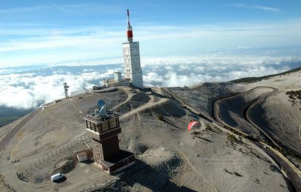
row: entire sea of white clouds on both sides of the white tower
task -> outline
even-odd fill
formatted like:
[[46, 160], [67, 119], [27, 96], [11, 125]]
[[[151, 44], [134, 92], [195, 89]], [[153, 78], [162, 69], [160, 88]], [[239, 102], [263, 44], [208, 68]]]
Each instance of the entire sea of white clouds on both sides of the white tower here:
[[[301, 58], [290, 56], [178, 56], [144, 57], [141, 60], [146, 86], [192, 86], [206, 81], [229, 81], [242, 77], [276, 74], [300, 66]], [[122, 61], [120, 61], [122, 63]], [[31, 109], [69, 93], [100, 85], [102, 79], [123, 72], [122, 64], [53, 66], [20, 72], [0, 69], [0, 106]]]

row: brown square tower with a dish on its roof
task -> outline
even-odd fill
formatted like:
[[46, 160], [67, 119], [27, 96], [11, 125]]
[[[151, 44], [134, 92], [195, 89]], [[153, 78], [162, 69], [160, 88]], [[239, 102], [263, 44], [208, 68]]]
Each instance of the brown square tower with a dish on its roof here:
[[121, 133], [119, 117], [108, 111], [104, 101], [98, 101], [95, 113], [88, 113], [86, 132], [91, 136], [95, 163], [111, 174], [134, 164], [134, 153], [119, 147], [118, 134]]

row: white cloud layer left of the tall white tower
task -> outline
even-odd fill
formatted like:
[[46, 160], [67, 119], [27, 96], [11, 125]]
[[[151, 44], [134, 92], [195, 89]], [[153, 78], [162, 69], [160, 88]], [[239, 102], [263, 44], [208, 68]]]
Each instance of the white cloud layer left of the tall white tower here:
[[91, 87], [91, 81], [111, 77], [114, 70], [105, 73], [84, 72], [82, 74], [56, 74], [42, 76], [33, 73], [5, 74], [0, 76], [0, 106], [31, 109], [44, 102], [64, 97], [63, 82], [68, 82], [69, 93]]

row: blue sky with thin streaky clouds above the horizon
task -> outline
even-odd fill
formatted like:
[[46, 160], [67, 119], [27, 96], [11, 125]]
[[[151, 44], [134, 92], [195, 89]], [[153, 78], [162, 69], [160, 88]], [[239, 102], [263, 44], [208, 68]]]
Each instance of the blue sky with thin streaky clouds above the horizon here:
[[0, 0], [0, 67], [122, 62], [127, 8], [141, 57], [236, 49], [294, 56], [301, 45], [300, 7], [301, 1]]

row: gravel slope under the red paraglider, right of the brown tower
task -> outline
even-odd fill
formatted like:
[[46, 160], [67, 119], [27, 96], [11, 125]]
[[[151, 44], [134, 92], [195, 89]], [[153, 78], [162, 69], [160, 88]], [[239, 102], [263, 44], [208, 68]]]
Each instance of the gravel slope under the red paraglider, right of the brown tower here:
[[[157, 115], [164, 115], [165, 121], [158, 120]], [[288, 190], [275, 162], [256, 145], [245, 140], [231, 143], [226, 133], [217, 128], [197, 129], [199, 134], [193, 135], [185, 130], [192, 118], [196, 117], [178, 104], [166, 102], [121, 122], [124, 127], [121, 143], [139, 154], [137, 157], [155, 171], [164, 173], [157, 169], [162, 161], [180, 165], [177, 162], [181, 159], [181, 167], [173, 167], [177, 170], [170, 179], [173, 184], [161, 184], [162, 191], [175, 184], [195, 191]], [[131, 190], [144, 189], [144, 182]]]

